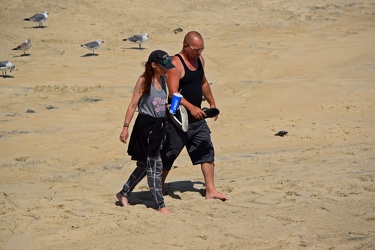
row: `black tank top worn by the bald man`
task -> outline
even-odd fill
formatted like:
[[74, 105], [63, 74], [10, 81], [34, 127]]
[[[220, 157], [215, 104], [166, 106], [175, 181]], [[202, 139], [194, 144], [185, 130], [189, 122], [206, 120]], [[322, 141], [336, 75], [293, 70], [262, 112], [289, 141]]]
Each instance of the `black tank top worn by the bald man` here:
[[201, 108], [202, 80], [204, 76], [204, 70], [203, 70], [201, 60], [200, 59], [198, 60], [198, 68], [194, 71], [191, 71], [186, 66], [181, 55], [177, 54], [176, 56], [180, 58], [180, 61], [184, 65], [184, 69], [185, 69], [185, 75], [183, 78], [180, 79], [178, 90], [188, 102], [190, 102], [194, 106]]

